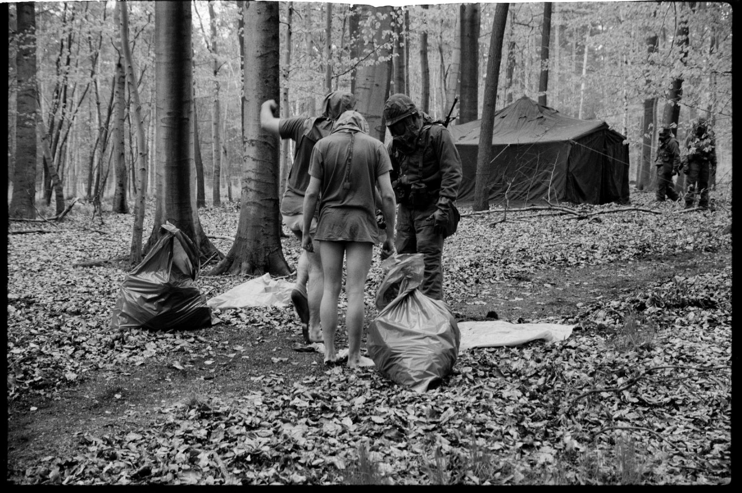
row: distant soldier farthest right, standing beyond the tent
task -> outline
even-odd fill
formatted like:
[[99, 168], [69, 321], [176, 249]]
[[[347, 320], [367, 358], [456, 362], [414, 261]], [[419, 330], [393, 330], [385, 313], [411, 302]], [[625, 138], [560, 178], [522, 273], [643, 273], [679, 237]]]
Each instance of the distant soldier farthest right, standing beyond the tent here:
[[716, 170], [716, 140], [714, 132], [709, 128], [706, 119], [701, 116], [686, 137], [685, 147], [688, 155], [683, 168], [686, 173], [688, 191], [686, 193], [686, 209], [693, 207], [695, 196], [700, 195], [698, 207], [709, 207], [709, 174]]

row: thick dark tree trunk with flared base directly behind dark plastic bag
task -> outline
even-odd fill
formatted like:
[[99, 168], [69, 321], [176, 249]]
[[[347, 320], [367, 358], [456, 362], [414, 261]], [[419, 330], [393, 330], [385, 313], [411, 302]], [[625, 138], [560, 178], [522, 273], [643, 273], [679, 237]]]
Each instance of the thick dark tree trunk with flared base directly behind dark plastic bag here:
[[193, 240], [202, 261], [222, 258], [206, 237], [198, 219], [195, 191], [191, 191], [193, 164], [193, 74], [191, 4], [157, 1], [154, 4], [155, 86], [157, 91], [157, 208], [154, 227], [143, 249], [160, 239], [160, 227], [170, 221]]

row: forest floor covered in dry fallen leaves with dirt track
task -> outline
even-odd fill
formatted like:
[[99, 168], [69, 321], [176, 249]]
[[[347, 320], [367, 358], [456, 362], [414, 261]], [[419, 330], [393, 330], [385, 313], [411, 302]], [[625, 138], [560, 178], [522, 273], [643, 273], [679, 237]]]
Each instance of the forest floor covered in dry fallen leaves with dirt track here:
[[[732, 211], [714, 196], [715, 211], [633, 191], [628, 207], [660, 214], [464, 216], [444, 253], [456, 319], [496, 311], [574, 331], [462, 351], [424, 394], [295, 351], [292, 306], [119, 337], [109, 323], [125, 269], [76, 264], [127, 254], [131, 216], [101, 225], [82, 205], [58, 224], [10, 222], [7, 481], [729, 483]], [[238, 215], [200, 211], [216, 236], [233, 236]], [[282, 241], [293, 266], [298, 242]], [[207, 299], [250, 279], [208, 274], [197, 281]], [[381, 278], [375, 255], [367, 325]], [[339, 348], [344, 309], [341, 295]]]

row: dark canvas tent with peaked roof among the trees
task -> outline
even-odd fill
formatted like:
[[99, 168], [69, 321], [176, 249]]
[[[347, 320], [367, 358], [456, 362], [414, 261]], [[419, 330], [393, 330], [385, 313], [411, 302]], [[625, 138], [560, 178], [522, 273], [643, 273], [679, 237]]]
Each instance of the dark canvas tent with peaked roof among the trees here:
[[[459, 202], [472, 202], [482, 120], [450, 127], [462, 158]], [[563, 116], [523, 96], [495, 113], [490, 203], [628, 202], [626, 138], [600, 120]]]

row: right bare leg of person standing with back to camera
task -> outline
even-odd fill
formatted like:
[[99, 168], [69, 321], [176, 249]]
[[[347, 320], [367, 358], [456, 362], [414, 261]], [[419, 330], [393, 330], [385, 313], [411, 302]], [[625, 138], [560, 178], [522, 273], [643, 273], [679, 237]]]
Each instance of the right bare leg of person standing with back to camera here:
[[367, 357], [361, 356], [361, 336], [364, 330], [364, 288], [371, 267], [373, 245], [371, 243], [348, 242], [347, 276], [345, 291], [348, 295], [348, 311], [345, 325], [348, 331], [348, 366], [373, 366]]

